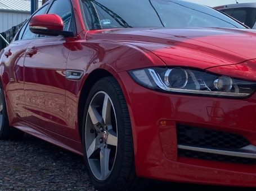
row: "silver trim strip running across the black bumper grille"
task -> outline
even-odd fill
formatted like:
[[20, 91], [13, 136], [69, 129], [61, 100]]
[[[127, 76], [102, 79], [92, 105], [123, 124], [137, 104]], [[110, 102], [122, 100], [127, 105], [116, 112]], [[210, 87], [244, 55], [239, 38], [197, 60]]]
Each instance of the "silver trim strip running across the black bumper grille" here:
[[242, 147], [236, 150], [216, 150], [212, 148], [191, 147], [191, 146], [185, 146], [185, 145], [178, 145], [178, 148], [183, 150], [206, 152], [206, 153], [212, 153], [217, 155], [256, 159], [256, 146], [253, 146], [253, 145]]

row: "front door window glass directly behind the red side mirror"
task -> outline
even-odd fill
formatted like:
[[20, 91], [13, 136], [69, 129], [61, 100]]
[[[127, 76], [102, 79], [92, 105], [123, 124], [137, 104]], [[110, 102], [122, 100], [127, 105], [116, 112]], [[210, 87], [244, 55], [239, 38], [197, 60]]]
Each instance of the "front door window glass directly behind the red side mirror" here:
[[53, 2], [48, 14], [59, 15], [64, 22], [64, 31], [74, 31], [73, 12], [70, 0], [56, 0]]

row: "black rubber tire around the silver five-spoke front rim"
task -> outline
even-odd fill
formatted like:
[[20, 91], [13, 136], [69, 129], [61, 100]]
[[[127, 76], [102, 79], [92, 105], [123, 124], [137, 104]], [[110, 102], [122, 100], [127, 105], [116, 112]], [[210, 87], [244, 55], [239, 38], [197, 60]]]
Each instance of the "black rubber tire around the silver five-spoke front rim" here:
[[[118, 128], [118, 144], [116, 147], [116, 158], [113, 170], [106, 180], [99, 180], [93, 174], [87, 159], [86, 151], [86, 119], [87, 111], [91, 100], [98, 93], [106, 92], [116, 110], [116, 123]], [[131, 120], [127, 104], [119, 86], [114, 77], [105, 77], [95, 83], [89, 92], [83, 115], [82, 142], [84, 146], [84, 160], [88, 169], [89, 177], [97, 190], [143, 190], [148, 185], [148, 180], [138, 178], [134, 164], [134, 150]]]

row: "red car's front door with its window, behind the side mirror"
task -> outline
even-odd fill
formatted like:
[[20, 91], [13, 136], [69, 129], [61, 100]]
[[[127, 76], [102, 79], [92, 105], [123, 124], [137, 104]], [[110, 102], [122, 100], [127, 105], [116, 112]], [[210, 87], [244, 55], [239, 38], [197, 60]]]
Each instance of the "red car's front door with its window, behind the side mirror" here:
[[[70, 0], [53, 1], [48, 14], [59, 15], [64, 30], [74, 31]], [[69, 38], [38, 36], [29, 44], [24, 62], [26, 120], [51, 132], [72, 138], [66, 123], [66, 63]]]

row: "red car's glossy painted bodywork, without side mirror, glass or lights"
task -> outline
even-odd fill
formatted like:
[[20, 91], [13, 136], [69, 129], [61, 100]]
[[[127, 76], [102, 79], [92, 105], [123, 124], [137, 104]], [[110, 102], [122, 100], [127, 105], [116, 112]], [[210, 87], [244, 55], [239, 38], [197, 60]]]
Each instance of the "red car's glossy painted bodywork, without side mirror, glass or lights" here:
[[[10, 124], [82, 154], [80, 94], [92, 72], [105, 70], [118, 80], [127, 100], [139, 176], [256, 187], [255, 165], [181, 158], [175, 139], [176, 124], [181, 123], [241, 134], [256, 145], [255, 94], [247, 99], [164, 94], [138, 85], [127, 73], [137, 68], [182, 66], [256, 81], [255, 33], [239, 29], [86, 31], [79, 2], [72, 2], [75, 38], [16, 41], [1, 52], [0, 74]], [[37, 53], [30, 57], [25, 52], [33, 48]], [[4, 52], [8, 50], [12, 55], [7, 58]], [[66, 69], [83, 71], [82, 80], [66, 80]]]

